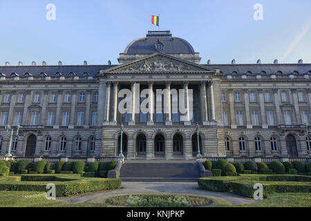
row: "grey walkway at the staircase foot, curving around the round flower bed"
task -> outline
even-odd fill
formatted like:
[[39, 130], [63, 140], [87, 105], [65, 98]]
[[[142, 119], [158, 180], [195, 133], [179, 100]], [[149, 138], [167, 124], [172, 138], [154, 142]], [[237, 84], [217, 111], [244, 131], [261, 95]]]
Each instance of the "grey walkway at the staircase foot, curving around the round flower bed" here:
[[132, 193], [188, 193], [196, 195], [210, 195], [223, 198], [232, 204], [252, 204], [258, 202], [232, 193], [220, 193], [198, 189], [197, 182], [122, 182], [122, 188], [113, 191], [100, 191], [97, 193], [77, 195], [70, 198], [58, 198], [57, 200], [70, 203], [82, 203], [116, 194]]

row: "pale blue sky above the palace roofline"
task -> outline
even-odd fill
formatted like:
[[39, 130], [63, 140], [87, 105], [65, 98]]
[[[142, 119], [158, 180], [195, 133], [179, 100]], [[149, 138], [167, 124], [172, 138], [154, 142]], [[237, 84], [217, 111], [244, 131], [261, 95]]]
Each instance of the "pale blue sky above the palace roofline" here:
[[[46, 19], [48, 3], [55, 21]], [[255, 3], [263, 21], [253, 19]], [[0, 65], [117, 64], [133, 39], [158, 30], [151, 15], [160, 15], [160, 30], [189, 41], [202, 64], [311, 63], [310, 11], [310, 0], [0, 0]]]

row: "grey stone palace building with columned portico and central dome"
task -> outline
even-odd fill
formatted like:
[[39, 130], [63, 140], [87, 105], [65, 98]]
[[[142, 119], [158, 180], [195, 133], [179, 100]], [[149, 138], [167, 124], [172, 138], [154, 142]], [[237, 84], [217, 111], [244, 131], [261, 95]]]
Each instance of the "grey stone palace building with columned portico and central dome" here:
[[[6, 62], [0, 155], [8, 153], [10, 124], [20, 125], [10, 151], [17, 157], [117, 157], [121, 144], [127, 160], [194, 160], [198, 147], [205, 158], [311, 156], [311, 64], [200, 60], [185, 39], [149, 31], [120, 53], [118, 65]], [[129, 113], [118, 110], [122, 89], [133, 93]], [[139, 109], [144, 89], [153, 91], [149, 113]], [[156, 97], [158, 89], [167, 100]], [[171, 93], [181, 89], [186, 114], [173, 108], [180, 97]]]

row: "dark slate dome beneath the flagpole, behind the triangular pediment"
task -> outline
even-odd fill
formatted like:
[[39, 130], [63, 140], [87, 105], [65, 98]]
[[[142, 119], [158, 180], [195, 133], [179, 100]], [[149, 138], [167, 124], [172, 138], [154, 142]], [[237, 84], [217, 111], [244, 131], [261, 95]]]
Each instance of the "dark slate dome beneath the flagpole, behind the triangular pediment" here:
[[167, 54], [194, 54], [194, 48], [185, 39], [172, 37], [169, 30], [148, 31], [146, 37], [135, 39], [124, 50], [127, 55], [144, 55], [155, 52]]

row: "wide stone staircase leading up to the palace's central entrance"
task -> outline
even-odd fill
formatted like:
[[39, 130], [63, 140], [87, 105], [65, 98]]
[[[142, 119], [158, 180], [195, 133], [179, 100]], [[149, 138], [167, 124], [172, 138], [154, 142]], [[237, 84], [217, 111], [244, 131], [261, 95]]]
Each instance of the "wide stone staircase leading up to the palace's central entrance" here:
[[128, 160], [120, 170], [122, 181], [196, 181], [198, 177], [198, 164], [184, 160]]

